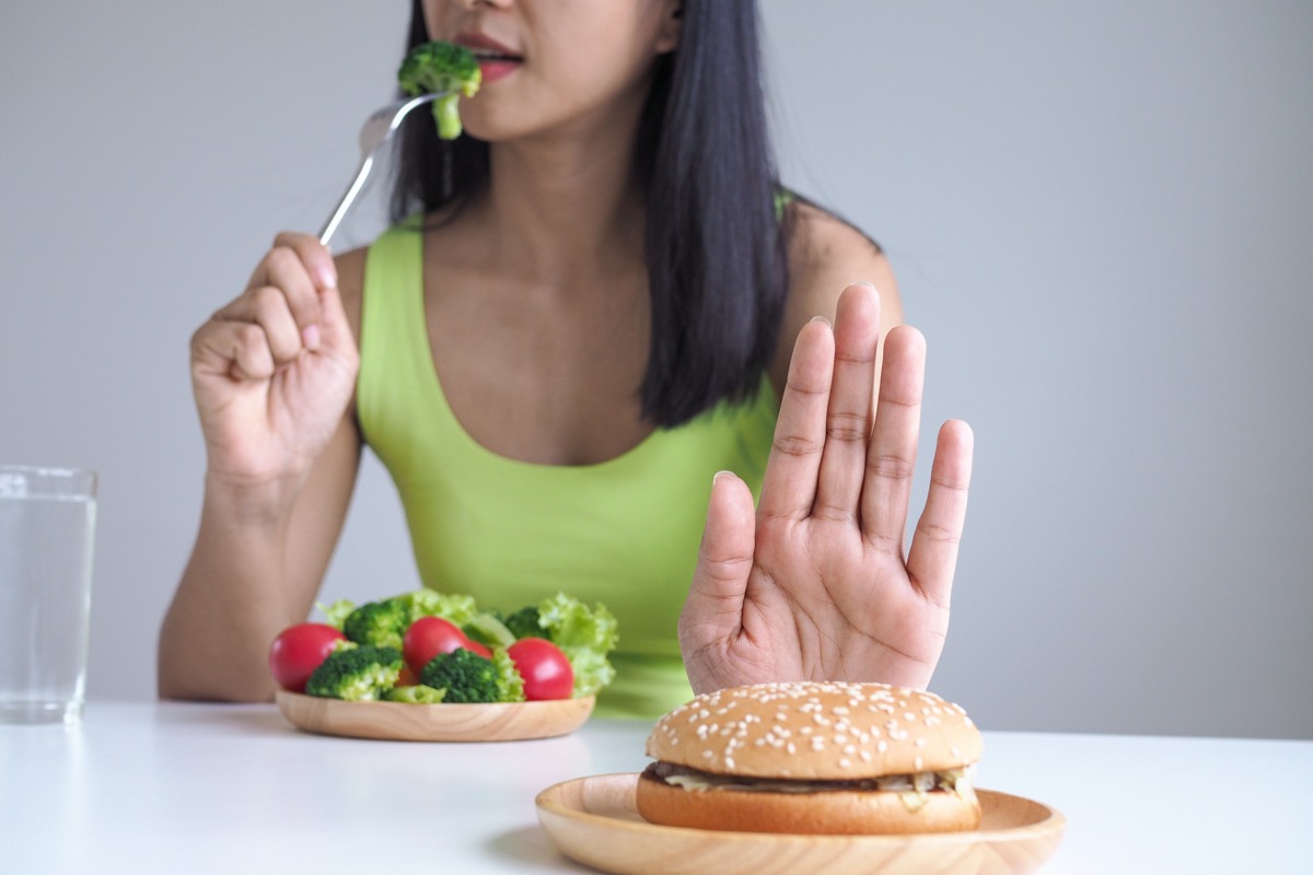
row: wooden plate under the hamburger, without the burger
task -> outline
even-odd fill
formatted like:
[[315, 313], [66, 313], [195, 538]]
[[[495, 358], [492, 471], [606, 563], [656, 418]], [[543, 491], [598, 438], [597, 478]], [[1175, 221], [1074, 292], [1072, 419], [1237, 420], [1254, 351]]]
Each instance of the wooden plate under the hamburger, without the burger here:
[[635, 774], [578, 778], [537, 798], [538, 823], [566, 857], [617, 875], [1024, 875], [1062, 840], [1066, 819], [1020, 796], [978, 790], [977, 830], [918, 836], [780, 836], [649, 824]]

